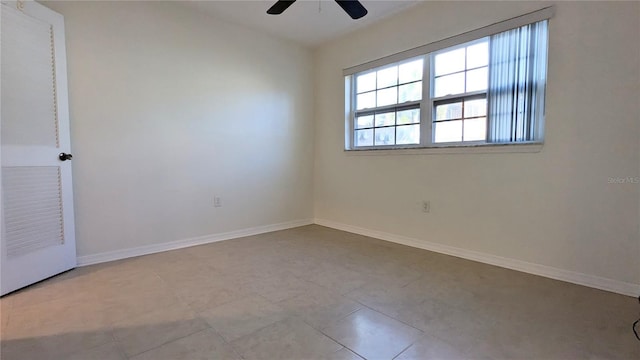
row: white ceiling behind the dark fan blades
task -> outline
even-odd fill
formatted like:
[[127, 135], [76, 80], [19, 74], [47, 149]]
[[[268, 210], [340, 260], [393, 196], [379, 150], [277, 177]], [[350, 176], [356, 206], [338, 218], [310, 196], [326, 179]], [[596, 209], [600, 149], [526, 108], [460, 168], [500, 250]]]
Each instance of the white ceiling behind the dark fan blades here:
[[[316, 46], [415, 5], [420, 0], [360, 0], [369, 13], [351, 19], [333, 0], [297, 0], [284, 13], [268, 15], [276, 0], [185, 1], [213, 17]], [[318, 10], [320, 8], [320, 11]]]

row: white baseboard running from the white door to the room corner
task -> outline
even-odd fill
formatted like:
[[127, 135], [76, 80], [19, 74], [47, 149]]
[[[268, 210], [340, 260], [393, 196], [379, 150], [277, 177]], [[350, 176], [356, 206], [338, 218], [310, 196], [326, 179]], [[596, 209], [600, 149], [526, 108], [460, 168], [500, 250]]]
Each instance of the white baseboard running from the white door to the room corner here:
[[225, 233], [204, 235], [204, 236], [198, 236], [198, 237], [193, 237], [189, 239], [170, 241], [162, 244], [145, 245], [145, 246], [139, 246], [139, 247], [130, 248], [130, 249], [107, 251], [107, 252], [94, 254], [94, 255], [79, 256], [78, 266], [86, 266], [86, 265], [103, 263], [107, 261], [121, 260], [121, 259], [126, 259], [130, 257], [135, 257], [135, 256], [154, 254], [162, 251], [182, 249], [182, 248], [195, 246], [195, 245], [202, 245], [202, 244], [208, 244], [208, 243], [217, 242], [217, 241], [258, 235], [258, 234], [263, 234], [267, 232], [285, 230], [285, 229], [290, 229], [290, 228], [304, 226], [304, 225], [311, 225], [311, 224], [313, 224], [313, 221], [311, 219], [294, 220], [294, 221], [288, 221], [288, 222], [279, 223], [279, 224], [256, 226], [248, 229], [234, 230], [234, 231], [229, 231]]

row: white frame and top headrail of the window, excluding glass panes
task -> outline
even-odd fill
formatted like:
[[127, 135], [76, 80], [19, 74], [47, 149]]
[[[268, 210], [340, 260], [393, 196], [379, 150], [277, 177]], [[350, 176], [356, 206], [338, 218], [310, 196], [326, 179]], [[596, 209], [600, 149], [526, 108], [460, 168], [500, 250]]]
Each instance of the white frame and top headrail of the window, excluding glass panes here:
[[[527, 145], [537, 145], [532, 149], [539, 151], [539, 146], [544, 142], [544, 138], [541, 136], [535, 141], [521, 141], [521, 142], [507, 142], [507, 143], [488, 143], [486, 141], [460, 141], [460, 142], [442, 142], [435, 143], [433, 141], [433, 117], [434, 117], [434, 99], [432, 98], [431, 89], [433, 87], [433, 61], [432, 58], [435, 54], [441, 51], [453, 50], [458, 46], [467, 46], [469, 43], [480, 41], [494, 34], [509, 31], [515, 28], [526, 26], [532, 23], [548, 20], [555, 14], [555, 7], [546, 7], [522, 16], [518, 16], [512, 19], [494, 23], [492, 25], [485, 26], [480, 29], [472, 30], [460, 35], [456, 35], [447, 39], [436, 41], [430, 44], [426, 44], [414, 49], [406, 50], [397, 54], [393, 54], [381, 59], [370, 61], [361, 65], [350, 67], [343, 70], [345, 78], [345, 150], [347, 151], [363, 151], [363, 150], [397, 150], [397, 149], [432, 149], [432, 148], [472, 148], [472, 147], [494, 147], [502, 148], [498, 151], [501, 152], [506, 147], [515, 148], [519, 147], [521, 150], [525, 149]], [[373, 146], [355, 146], [355, 104], [356, 104], [356, 91], [355, 91], [355, 75], [372, 71], [374, 69], [382, 68], [384, 66], [392, 64], [401, 64], [402, 62], [410, 61], [418, 57], [423, 57], [423, 80], [422, 80], [422, 99], [420, 103], [420, 144], [415, 145], [373, 145]], [[488, 93], [486, 91], [479, 91], [478, 93]], [[451, 95], [451, 98], [462, 98], [470, 96], [469, 93]], [[435, 101], [441, 101], [442, 98], [436, 98]], [[448, 98], [448, 97], [447, 97]], [[391, 107], [402, 107], [405, 104], [396, 104]], [[544, 120], [539, 119], [537, 126], [543, 128]], [[487, 127], [488, 129], [488, 127]], [[542, 132], [543, 133], [543, 132]], [[375, 141], [375, 139], [374, 139]], [[524, 145], [524, 146], [523, 146]], [[458, 151], [456, 151], [458, 152]], [[520, 150], [516, 150], [520, 152]]]

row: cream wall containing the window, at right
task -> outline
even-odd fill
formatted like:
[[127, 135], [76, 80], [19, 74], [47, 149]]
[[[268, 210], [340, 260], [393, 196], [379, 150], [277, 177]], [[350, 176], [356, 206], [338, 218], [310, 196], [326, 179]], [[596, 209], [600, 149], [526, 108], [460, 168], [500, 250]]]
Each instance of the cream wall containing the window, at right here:
[[640, 284], [640, 185], [608, 183], [640, 176], [637, 2], [557, 4], [540, 153], [343, 152], [343, 68], [544, 6], [426, 2], [317, 49], [316, 218]]

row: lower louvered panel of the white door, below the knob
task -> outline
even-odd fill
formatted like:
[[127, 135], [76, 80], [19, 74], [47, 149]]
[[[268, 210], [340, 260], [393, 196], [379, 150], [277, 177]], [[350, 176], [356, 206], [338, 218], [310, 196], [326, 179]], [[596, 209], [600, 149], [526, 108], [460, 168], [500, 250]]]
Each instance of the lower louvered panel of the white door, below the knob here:
[[2, 169], [7, 256], [64, 243], [60, 168]]

